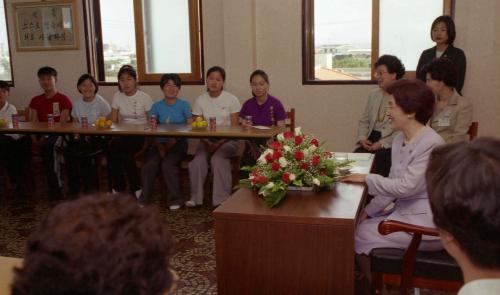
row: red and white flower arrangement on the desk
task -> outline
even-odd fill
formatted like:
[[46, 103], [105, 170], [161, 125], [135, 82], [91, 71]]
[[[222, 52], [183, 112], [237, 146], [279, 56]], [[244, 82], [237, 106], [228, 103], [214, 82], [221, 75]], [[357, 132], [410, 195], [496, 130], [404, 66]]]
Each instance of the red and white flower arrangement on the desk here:
[[341, 175], [349, 173], [352, 161], [338, 161], [333, 153], [325, 151], [319, 140], [286, 131], [271, 141], [250, 171], [248, 179], [240, 180], [240, 187], [258, 189], [269, 207], [276, 206], [290, 187], [330, 187]]

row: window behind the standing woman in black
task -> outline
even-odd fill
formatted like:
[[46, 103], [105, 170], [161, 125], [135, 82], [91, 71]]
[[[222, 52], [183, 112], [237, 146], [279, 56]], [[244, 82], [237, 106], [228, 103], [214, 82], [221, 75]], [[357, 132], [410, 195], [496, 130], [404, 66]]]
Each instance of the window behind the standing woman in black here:
[[392, 54], [415, 76], [420, 54], [434, 46], [430, 26], [452, 0], [303, 0], [304, 84], [373, 83], [372, 65]]

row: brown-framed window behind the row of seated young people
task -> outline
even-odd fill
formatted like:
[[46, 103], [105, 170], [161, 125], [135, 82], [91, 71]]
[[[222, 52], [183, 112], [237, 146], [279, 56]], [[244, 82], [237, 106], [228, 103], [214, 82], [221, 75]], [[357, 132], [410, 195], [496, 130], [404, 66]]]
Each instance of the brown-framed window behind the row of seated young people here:
[[139, 81], [158, 83], [178, 73], [203, 84], [200, 0], [87, 0], [89, 68], [99, 81], [116, 82], [124, 64]]

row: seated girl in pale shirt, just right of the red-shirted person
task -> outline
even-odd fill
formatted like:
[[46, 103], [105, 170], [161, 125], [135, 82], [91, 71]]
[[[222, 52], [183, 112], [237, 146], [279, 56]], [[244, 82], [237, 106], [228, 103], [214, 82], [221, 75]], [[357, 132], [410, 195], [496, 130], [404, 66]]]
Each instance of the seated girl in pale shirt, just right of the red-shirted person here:
[[[95, 122], [99, 117], [106, 117], [111, 113], [109, 103], [97, 91], [99, 85], [94, 77], [83, 74], [76, 83], [82, 99], [75, 103], [71, 110], [73, 121], [81, 123], [86, 117], [88, 124]], [[91, 155], [106, 148], [107, 142], [100, 136], [73, 137], [64, 150], [68, 171], [68, 195], [73, 196], [80, 192], [80, 182], [83, 191], [89, 193], [98, 188], [97, 166]]]

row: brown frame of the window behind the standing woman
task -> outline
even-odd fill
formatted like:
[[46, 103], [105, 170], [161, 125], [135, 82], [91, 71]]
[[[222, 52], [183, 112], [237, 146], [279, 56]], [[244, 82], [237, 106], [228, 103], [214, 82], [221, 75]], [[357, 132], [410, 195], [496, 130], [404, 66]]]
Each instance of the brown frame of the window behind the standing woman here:
[[[455, 0], [442, 0], [443, 14], [454, 16]], [[379, 7], [380, 0], [372, 0], [371, 64], [379, 57]], [[314, 78], [314, 0], [302, 0], [302, 84], [303, 85], [367, 85], [376, 84], [371, 67], [370, 80], [316, 80]], [[405, 78], [415, 78], [415, 71], [406, 71]]]

